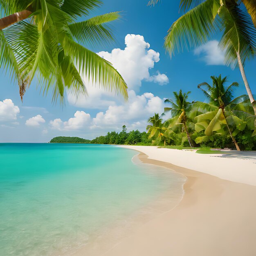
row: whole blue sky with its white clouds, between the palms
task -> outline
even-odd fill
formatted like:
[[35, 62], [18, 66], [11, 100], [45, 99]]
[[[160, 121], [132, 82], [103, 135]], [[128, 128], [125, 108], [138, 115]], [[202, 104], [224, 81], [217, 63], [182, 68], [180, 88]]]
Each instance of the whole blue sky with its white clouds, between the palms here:
[[[229, 76], [230, 83], [240, 84], [236, 96], [246, 93], [239, 69], [223, 65], [223, 53], [217, 47], [220, 36], [211, 38], [199, 49], [175, 54], [173, 58], [166, 54], [164, 37], [181, 15], [179, 1], [163, 0], [155, 7], [147, 7], [147, 0], [103, 2], [91, 16], [122, 11], [123, 18], [113, 23], [115, 43], [92, 50], [112, 61], [127, 80], [128, 103], [88, 84], [88, 99], [82, 97], [75, 102], [66, 92], [65, 106], [53, 105], [51, 93], [43, 97], [35, 81], [27, 89], [22, 103], [18, 85], [3, 72], [0, 74], [0, 142], [48, 142], [55, 136], [92, 139], [107, 131], [120, 131], [124, 124], [128, 130], [142, 131], [150, 115], [162, 113], [164, 98], [172, 97], [173, 91], [191, 91], [191, 101], [204, 101], [197, 85], [204, 81], [210, 83], [211, 75]], [[113, 49], [116, 50], [112, 52]], [[256, 92], [255, 67], [255, 60], [245, 65], [253, 93]]]

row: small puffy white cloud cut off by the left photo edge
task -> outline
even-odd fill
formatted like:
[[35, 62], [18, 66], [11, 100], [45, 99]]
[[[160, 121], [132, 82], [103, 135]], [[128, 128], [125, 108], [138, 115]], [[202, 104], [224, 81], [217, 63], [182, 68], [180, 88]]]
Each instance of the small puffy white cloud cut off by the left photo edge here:
[[20, 113], [18, 106], [15, 106], [11, 99], [0, 101], [0, 121], [16, 120]]

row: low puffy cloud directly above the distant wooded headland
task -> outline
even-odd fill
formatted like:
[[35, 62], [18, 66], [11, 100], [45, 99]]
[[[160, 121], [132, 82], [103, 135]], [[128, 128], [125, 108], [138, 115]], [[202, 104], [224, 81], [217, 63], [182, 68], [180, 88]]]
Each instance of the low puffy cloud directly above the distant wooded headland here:
[[61, 119], [54, 119], [49, 122], [50, 127], [54, 130], [80, 130], [90, 124], [90, 114], [84, 111], [76, 111], [74, 117], [63, 122]]

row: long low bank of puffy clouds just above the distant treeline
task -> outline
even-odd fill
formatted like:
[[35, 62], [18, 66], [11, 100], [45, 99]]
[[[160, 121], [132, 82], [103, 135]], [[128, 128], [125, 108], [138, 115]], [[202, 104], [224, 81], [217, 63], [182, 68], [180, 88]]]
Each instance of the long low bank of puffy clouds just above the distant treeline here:
[[99, 135], [110, 130], [120, 131], [125, 124], [128, 130], [145, 130], [147, 119], [154, 113], [162, 113], [164, 99], [150, 92], [136, 95], [135, 91], [129, 91], [129, 101], [122, 104], [110, 105], [106, 111], [98, 112], [94, 118], [84, 111], [76, 111], [74, 117], [68, 121], [60, 118], [51, 120], [49, 128], [60, 131], [93, 130]]

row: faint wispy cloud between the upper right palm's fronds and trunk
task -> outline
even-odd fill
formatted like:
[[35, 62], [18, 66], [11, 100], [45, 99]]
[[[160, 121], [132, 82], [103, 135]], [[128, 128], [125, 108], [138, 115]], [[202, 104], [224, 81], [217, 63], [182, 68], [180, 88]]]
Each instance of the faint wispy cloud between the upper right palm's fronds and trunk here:
[[217, 40], [211, 40], [194, 50], [194, 54], [207, 65], [225, 65], [225, 52], [218, 47]]

